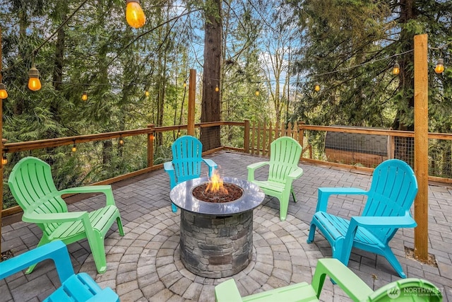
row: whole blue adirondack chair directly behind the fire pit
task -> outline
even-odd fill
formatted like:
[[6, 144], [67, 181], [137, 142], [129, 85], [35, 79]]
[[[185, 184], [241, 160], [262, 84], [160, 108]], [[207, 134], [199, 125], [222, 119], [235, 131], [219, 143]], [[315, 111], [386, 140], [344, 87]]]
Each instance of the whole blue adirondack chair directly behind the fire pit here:
[[[211, 159], [202, 158], [203, 144], [195, 137], [185, 135], [176, 139], [171, 146], [172, 161], [163, 163], [163, 168], [169, 175], [171, 189], [181, 182], [201, 177], [201, 163], [204, 162], [209, 168], [209, 177], [213, 175], [213, 170], [217, 164]], [[172, 211], [176, 212], [177, 207], [171, 203]]]

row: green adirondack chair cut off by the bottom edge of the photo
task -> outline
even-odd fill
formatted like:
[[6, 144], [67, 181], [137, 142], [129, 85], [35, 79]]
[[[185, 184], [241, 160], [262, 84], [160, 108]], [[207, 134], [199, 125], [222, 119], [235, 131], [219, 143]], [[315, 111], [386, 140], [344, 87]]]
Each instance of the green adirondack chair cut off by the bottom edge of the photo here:
[[333, 258], [319, 259], [312, 284], [301, 282], [242, 297], [234, 279], [229, 279], [215, 286], [215, 299], [217, 302], [319, 301], [327, 275], [352, 301], [442, 301], [441, 291], [434, 284], [423, 279], [410, 278], [394, 281], [373, 291], [348, 267]]

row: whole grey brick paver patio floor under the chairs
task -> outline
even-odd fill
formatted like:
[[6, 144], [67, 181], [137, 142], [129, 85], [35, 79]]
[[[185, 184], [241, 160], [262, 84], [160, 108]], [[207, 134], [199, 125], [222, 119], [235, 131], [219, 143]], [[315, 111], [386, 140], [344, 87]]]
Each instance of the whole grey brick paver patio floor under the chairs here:
[[[242, 153], [219, 152], [210, 156], [225, 176], [246, 178], [246, 165], [266, 158]], [[254, 210], [254, 247], [252, 261], [234, 275], [242, 295], [265, 291], [301, 281], [311, 281], [316, 261], [331, 257], [331, 247], [317, 233], [307, 244], [309, 221], [316, 208], [318, 187], [362, 187], [367, 189], [371, 176], [328, 165], [301, 163], [304, 175], [295, 181], [297, 202], [290, 199], [286, 221], [279, 220], [278, 199], [266, 197]], [[203, 167], [203, 170], [207, 170]], [[265, 178], [265, 170], [256, 174]], [[123, 219], [124, 237], [117, 227], [107, 233], [107, 272], [97, 274], [86, 240], [69, 245], [76, 272], [88, 272], [100, 286], [117, 291], [121, 301], [215, 301], [214, 286], [225, 279], [199, 277], [185, 269], [179, 257], [179, 211], [170, 208], [169, 180], [162, 170], [113, 185], [114, 197]], [[105, 198], [95, 196], [71, 204], [69, 209], [90, 210], [100, 207]], [[331, 198], [331, 211], [341, 216], [359, 215], [362, 197]], [[408, 277], [432, 281], [452, 301], [452, 188], [429, 185], [429, 253], [436, 266], [423, 264], [405, 255], [414, 248], [414, 231], [399, 230], [391, 240]], [[16, 222], [2, 227], [1, 248], [18, 255], [35, 248], [40, 229], [30, 223]], [[348, 265], [371, 288], [378, 289], [400, 279], [381, 256], [352, 250]], [[58, 286], [51, 262], [37, 265], [32, 274], [23, 272], [0, 281], [1, 301], [41, 301]], [[349, 301], [338, 286], [326, 282], [322, 301]]]

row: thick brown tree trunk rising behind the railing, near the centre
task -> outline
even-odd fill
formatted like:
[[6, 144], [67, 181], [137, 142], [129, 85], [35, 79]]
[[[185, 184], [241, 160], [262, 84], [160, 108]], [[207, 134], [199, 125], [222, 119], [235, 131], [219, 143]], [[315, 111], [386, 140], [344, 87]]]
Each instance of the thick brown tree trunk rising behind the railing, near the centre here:
[[[211, 7], [206, 10], [204, 36], [204, 70], [203, 70], [203, 100], [201, 103], [201, 122], [220, 121], [220, 88], [222, 19], [221, 0], [209, 1]], [[221, 146], [220, 127], [201, 128], [201, 143], [203, 150]]]

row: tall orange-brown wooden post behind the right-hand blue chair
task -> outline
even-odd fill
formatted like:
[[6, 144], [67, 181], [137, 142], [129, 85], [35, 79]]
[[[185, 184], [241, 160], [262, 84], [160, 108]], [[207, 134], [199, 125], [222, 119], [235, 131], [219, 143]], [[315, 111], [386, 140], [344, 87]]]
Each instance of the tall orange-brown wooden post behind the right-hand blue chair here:
[[415, 199], [415, 257], [429, 258], [429, 75], [427, 34], [415, 35], [415, 175], [419, 190]]

